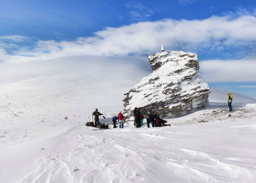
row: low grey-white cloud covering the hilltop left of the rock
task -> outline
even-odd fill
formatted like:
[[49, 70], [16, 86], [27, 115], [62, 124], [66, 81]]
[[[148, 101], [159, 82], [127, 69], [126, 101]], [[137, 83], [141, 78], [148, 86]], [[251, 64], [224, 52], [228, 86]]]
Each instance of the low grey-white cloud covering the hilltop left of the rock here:
[[135, 84], [150, 72], [145, 67], [145, 60], [146, 58], [131, 56], [72, 56], [23, 63], [5, 62], [0, 66], [0, 85], [41, 76], [66, 77], [74, 82], [85, 80], [92, 85], [102, 82], [105, 85], [115, 82]]

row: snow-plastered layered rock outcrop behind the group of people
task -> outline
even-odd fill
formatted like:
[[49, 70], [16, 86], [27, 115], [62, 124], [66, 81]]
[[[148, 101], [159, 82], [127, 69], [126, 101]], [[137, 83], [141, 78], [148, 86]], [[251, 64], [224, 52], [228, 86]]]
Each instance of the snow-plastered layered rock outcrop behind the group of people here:
[[206, 105], [210, 91], [199, 74], [197, 54], [159, 52], [148, 60], [153, 72], [125, 93], [126, 115], [130, 117], [137, 107], [143, 115], [157, 112], [163, 118], [179, 117]]

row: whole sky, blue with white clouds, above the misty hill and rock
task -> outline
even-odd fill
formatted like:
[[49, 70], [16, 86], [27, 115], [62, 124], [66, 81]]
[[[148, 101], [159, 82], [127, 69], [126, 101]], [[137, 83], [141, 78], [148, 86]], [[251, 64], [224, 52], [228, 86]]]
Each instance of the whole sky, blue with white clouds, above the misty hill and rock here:
[[164, 43], [168, 51], [197, 53], [210, 87], [256, 97], [255, 16], [256, 1], [3, 1], [0, 62], [146, 60]]

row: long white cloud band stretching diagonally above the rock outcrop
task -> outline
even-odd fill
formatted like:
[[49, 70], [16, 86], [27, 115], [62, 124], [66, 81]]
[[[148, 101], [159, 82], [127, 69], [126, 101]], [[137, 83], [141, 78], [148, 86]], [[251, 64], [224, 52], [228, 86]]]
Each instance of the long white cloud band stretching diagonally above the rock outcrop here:
[[[18, 49], [15, 54], [39, 59], [72, 55], [143, 55], [159, 51], [162, 43], [171, 50], [213, 52], [230, 46], [253, 47], [255, 41], [255, 16], [213, 16], [205, 20], [165, 19], [118, 28], [107, 27], [95, 32], [93, 37], [80, 37], [74, 41], [38, 41], [32, 51]], [[18, 57], [8, 56], [8, 61], [19, 60]]]

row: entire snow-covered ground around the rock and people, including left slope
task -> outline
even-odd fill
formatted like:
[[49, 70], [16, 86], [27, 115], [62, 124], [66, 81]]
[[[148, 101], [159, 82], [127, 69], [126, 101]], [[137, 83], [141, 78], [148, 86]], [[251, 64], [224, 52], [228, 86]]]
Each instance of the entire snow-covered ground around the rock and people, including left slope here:
[[133, 82], [42, 76], [2, 84], [0, 181], [256, 181], [256, 104], [234, 103], [230, 113], [218, 90], [206, 108], [167, 119], [171, 127], [84, 125], [96, 107], [110, 122]]

